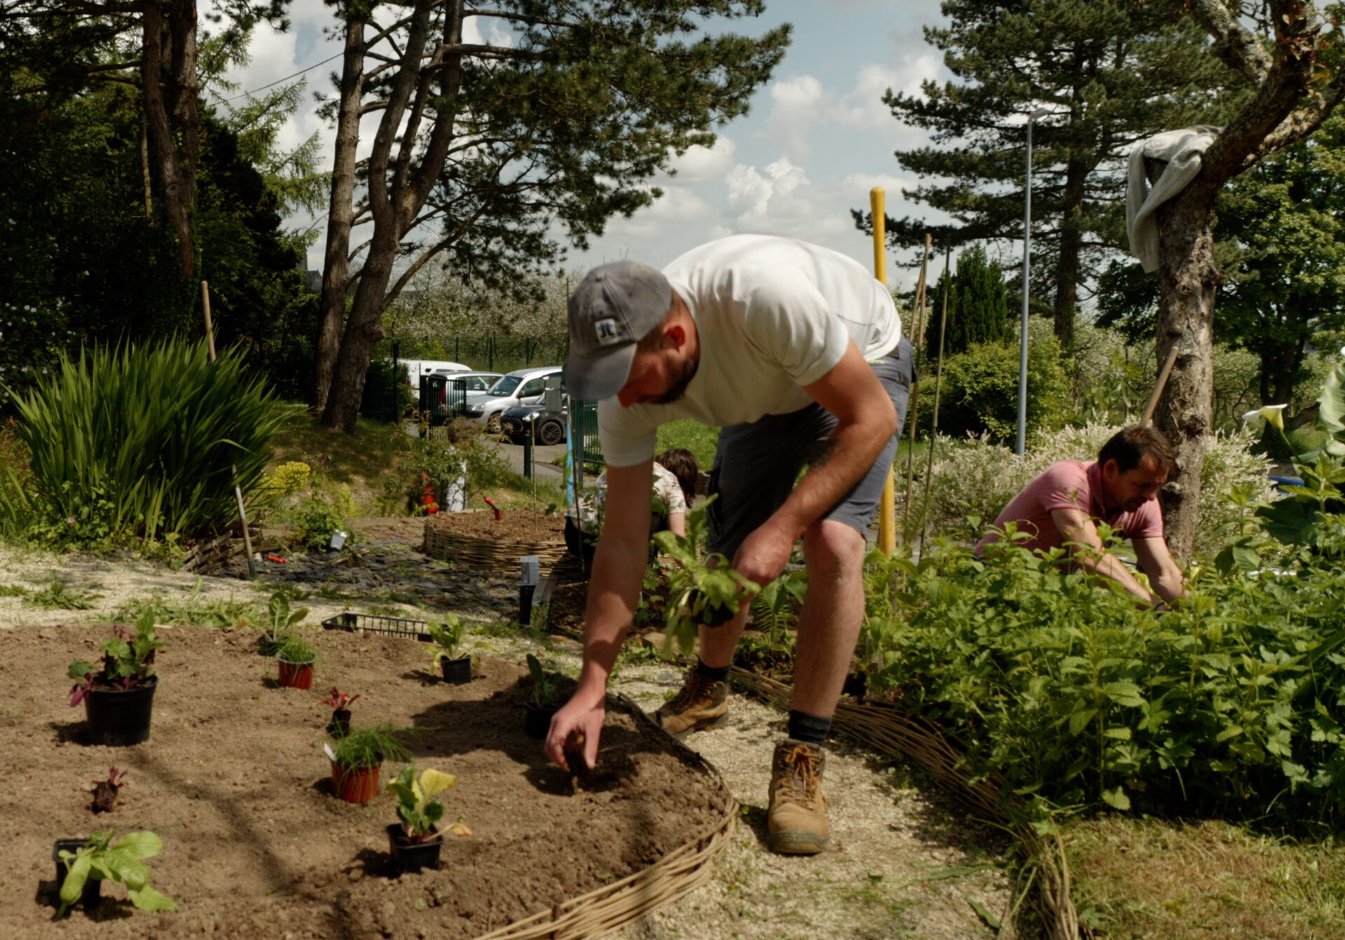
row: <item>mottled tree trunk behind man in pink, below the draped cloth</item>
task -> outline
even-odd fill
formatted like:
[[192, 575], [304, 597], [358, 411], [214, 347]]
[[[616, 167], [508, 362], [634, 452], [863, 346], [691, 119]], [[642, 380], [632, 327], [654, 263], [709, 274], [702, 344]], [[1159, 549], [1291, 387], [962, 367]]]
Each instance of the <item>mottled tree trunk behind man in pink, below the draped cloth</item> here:
[[[1166, 164], [1146, 160], [1150, 180]], [[1167, 387], [1158, 399], [1154, 425], [1177, 449], [1177, 475], [1159, 499], [1166, 520], [1167, 545], [1177, 558], [1190, 558], [1200, 514], [1200, 479], [1205, 469], [1205, 441], [1212, 429], [1213, 320], [1219, 269], [1209, 223], [1217, 187], [1192, 186], [1158, 207], [1162, 245], [1159, 269], [1158, 336], [1155, 373], [1177, 347]]]

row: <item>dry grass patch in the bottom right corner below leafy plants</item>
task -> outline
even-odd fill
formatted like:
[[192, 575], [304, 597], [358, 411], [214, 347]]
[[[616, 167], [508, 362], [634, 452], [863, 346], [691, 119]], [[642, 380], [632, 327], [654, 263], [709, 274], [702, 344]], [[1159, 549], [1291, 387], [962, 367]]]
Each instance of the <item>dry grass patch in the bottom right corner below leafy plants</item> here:
[[1223, 822], [1111, 816], [1067, 838], [1081, 918], [1106, 936], [1345, 936], [1345, 854]]

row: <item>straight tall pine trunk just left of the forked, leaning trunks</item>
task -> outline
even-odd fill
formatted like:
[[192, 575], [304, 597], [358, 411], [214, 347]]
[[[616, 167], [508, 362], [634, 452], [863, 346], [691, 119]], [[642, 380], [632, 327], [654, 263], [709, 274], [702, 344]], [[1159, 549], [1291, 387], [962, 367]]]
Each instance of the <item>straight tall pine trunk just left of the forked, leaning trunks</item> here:
[[332, 164], [327, 207], [327, 250], [317, 313], [317, 350], [313, 363], [313, 402], [327, 407], [336, 352], [340, 350], [350, 286], [350, 230], [355, 222], [355, 149], [359, 145], [359, 100], [364, 87], [364, 20], [346, 20], [342, 55], [340, 105], [336, 116], [336, 159]]

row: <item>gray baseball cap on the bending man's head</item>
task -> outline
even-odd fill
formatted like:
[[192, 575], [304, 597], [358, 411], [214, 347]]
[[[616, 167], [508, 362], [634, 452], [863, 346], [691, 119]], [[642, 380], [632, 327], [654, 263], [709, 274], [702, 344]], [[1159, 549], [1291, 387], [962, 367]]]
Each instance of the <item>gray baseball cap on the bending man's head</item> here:
[[672, 305], [672, 285], [636, 261], [590, 270], [570, 295], [570, 355], [565, 387], [578, 401], [611, 398], [631, 373], [635, 344]]

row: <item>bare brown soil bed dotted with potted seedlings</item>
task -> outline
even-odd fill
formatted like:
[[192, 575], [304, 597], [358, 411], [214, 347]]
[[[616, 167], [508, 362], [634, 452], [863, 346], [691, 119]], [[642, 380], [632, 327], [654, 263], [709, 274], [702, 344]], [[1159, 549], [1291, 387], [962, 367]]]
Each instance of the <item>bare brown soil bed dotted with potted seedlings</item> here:
[[[525, 670], [483, 659], [448, 686], [418, 644], [313, 633], [323, 658], [309, 691], [272, 687], [256, 631], [160, 628], [151, 738], [83, 744], [67, 705], [71, 659], [94, 659], [102, 627], [0, 632], [9, 742], [0, 796], [0, 936], [5, 937], [473, 937], [643, 869], [713, 826], [725, 795], [686, 752], [632, 714], [608, 710], [593, 780], [577, 788], [523, 734]], [[456, 773], [445, 823], [473, 835], [444, 845], [440, 870], [393, 877], [383, 827], [393, 797], [336, 800], [321, 745], [332, 686], [359, 693], [352, 725], [414, 725], [418, 767]], [[90, 781], [129, 773], [116, 808], [94, 816]], [[382, 781], [399, 769], [385, 764]], [[152, 885], [179, 910], [136, 912], [105, 885], [93, 916], [52, 923], [58, 838], [116, 827], [164, 842]]]

